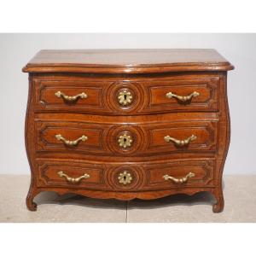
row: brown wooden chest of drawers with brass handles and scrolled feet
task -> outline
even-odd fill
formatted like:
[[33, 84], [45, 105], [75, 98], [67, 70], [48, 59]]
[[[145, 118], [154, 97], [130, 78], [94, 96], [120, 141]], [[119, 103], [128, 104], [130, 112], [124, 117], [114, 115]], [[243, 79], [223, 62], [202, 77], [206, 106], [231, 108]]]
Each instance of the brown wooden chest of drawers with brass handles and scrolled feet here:
[[47, 190], [125, 201], [209, 191], [221, 212], [231, 69], [213, 49], [40, 51], [23, 68], [28, 209]]

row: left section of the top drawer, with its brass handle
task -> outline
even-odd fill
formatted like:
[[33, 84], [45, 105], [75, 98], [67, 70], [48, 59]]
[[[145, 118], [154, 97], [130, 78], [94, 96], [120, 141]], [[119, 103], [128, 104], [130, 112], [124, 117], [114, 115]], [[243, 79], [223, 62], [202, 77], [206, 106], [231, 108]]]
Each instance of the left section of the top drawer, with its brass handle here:
[[[37, 110], [106, 112], [102, 81], [33, 79]], [[107, 111], [108, 112], [108, 111]]]

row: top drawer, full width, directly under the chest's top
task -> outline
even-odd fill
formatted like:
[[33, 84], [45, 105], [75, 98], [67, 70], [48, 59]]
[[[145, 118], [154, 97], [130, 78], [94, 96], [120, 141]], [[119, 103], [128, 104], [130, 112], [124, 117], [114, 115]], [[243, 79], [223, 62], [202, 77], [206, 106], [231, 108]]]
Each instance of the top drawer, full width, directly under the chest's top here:
[[37, 111], [115, 115], [218, 111], [217, 74], [131, 79], [38, 76], [33, 88]]

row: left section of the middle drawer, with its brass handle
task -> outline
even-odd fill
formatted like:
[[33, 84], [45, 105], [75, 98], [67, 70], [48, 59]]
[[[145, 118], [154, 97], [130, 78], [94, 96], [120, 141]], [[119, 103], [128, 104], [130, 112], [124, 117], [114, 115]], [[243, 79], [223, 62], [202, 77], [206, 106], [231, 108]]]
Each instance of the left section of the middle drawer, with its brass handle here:
[[36, 121], [36, 150], [38, 152], [108, 153], [106, 132], [109, 127], [110, 125], [86, 122]]

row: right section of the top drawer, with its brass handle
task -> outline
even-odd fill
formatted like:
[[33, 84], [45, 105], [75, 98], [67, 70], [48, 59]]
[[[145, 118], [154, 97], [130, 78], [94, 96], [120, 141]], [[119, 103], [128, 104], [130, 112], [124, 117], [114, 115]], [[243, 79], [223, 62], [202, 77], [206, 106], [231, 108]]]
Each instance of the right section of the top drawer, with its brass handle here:
[[146, 86], [148, 104], [143, 111], [217, 111], [218, 76], [172, 76], [152, 79]]

